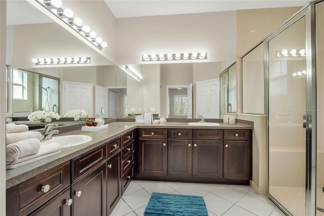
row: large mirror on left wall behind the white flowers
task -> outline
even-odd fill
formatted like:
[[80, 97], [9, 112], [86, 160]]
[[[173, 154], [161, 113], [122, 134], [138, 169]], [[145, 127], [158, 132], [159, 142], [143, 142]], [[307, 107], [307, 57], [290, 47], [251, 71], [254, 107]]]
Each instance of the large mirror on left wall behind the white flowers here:
[[[34, 16], [28, 16], [27, 12]], [[91, 63], [35, 65], [31, 61], [75, 56], [90, 57]], [[36, 110], [54, 111], [61, 117], [74, 109], [85, 109], [89, 117], [101, 118], [122, 117], [127, 113], [126, 73], [27, 1], [7, 2], [6, 59], [7, 117], [27, 117]], [[13, 89], [21, 88], [23, 94], [24, 83], [19, 86], [13, 80], [16, 74], [28, 86], [28, 92], [18, 95], [20, 99], [13, 95]]]

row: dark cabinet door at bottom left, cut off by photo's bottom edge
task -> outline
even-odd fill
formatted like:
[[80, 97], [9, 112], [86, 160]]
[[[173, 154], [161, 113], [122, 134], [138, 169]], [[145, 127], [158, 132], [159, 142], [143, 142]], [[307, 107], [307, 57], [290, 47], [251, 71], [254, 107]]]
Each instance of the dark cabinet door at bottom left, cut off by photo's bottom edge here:
[[69, 216], [71, 215], [71, 204], [73, 200], [71, 197], [70, 188], [61, 193], [51, 201], [43, 205], [41, 208], [33, 212], [31, 215], [35, 216]]

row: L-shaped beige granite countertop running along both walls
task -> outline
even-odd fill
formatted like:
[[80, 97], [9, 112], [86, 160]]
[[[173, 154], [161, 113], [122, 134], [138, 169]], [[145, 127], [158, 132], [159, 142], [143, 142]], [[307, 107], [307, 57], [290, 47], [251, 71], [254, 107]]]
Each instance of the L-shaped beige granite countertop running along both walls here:
[[25, 166], [21, 166], [15, 169], [6, 170], [6, 189], [12, 188], [29, 178], [32, 178], [38, 174], [41, 174], [55, 166], [58, 166], [66, 161], [69, 161], [75, 157], [78, 157], [92, 149], [95, 149], [104, 143], [128, 132], [135, 128], [192, 128], [192, 129], [253, 129], [252, 126], [244, 124], [223, 124], [219, 126], [190, 126], [184, 122], [167, 122], [165, 124], [141, 124], [135, 122], [113, 122], [109, 123], [109, 127], [106, 130], [98, 132], [83, 132], [76, 130], [60, 135], [73, 135], [73, 134], [85, 134], [92, 137], [92, 140], [73, 148], [62, 149], [60, 154], [45, 158]]

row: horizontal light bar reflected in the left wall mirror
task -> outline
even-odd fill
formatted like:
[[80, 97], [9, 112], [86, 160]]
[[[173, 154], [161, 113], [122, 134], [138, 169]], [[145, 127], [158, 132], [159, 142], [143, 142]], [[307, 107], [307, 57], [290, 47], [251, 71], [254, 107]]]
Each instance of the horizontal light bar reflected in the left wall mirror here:
[[35, 65], [43, 65], [43, 64], [85, 64], [91, 63], [90, 57], [67, 57], [67, 58], [33, 58], [32, 62]]

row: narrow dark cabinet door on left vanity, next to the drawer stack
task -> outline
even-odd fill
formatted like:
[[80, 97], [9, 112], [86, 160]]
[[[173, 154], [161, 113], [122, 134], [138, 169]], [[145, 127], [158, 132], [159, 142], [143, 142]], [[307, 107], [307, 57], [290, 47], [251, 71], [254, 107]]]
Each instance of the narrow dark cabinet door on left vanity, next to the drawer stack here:
[[121, 152], [107, 161], [107, 211], [108, 215], [121, 197]]

